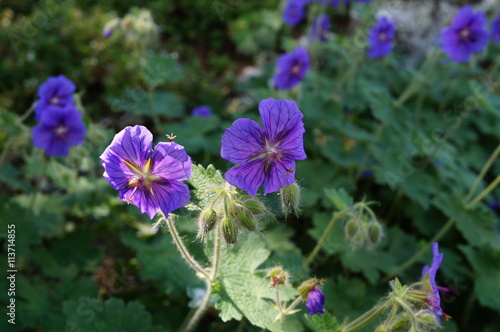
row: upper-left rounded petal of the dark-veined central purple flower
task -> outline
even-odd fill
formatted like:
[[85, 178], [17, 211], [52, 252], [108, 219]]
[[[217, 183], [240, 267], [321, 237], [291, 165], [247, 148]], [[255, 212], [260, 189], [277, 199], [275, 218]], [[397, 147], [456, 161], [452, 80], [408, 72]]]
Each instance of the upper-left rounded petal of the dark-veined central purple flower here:
[[222, 135], [221, 156], [235, 163], [243, 164], [264, 152], [264, 132], [257, 122], [238, 119]]

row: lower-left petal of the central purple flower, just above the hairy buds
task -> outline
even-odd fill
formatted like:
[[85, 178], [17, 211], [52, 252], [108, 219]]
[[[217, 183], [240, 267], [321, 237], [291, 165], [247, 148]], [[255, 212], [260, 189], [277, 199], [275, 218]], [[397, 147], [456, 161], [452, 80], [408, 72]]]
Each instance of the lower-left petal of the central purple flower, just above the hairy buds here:
[[252, 160], [244, 165], [231, 168], [224, 177], [233, 186], [246, 190], [249, 195], [255, 196], [264, 181], [265, 162], [264, 158]]

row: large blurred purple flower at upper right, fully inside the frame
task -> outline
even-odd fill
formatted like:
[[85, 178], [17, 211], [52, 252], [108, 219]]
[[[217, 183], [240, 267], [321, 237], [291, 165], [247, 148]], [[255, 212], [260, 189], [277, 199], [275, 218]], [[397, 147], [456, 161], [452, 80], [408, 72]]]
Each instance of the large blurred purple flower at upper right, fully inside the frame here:
[[441, 49], [451, 60], [469, 61], [472, 53], [479, 53], [488, 43], [489, 34], [485, 29], [486, 17], [470, 6], [462, 7], [449, 27], [441, 31]]

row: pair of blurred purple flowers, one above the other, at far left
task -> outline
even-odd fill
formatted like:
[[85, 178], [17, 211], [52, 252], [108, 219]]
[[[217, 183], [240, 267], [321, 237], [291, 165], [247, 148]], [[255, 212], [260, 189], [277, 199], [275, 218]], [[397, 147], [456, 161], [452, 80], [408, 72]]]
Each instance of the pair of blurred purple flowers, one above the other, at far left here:
[[33, 145], [49, 156], [66, 156], [71, 146], [85, 139], [87, 131], [81, 113], [75, 108], [75, 85], [63, 75], [49, 77], [38, 88]]

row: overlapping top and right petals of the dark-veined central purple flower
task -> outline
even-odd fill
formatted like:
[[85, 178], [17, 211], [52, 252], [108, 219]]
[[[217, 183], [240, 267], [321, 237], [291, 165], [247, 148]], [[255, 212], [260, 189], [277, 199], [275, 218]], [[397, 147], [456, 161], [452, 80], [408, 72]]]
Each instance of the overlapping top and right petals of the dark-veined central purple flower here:
[[271, 145], [279, 144], [283, 154], [295, 160], [305, 159], [304, 115], [297, 104], [291, 100], [269, 98], [259, 103], [259, 112], [266, 138]]

